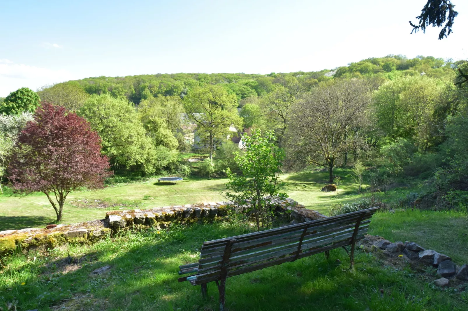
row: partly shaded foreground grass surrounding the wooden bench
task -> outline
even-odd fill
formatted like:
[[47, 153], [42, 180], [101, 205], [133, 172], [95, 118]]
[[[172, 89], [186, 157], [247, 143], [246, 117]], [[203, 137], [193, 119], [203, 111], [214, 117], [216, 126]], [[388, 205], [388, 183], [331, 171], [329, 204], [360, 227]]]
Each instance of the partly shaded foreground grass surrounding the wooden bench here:
[[[400, 226], [402, 218], [409, 221]], [[371, 232], [388, 233], [387, 238], [399, 240], [412, 240], [414, 236], [421, 245], [439, 249], [444, 240], [436, 236], [444, 226], [452, 226], [453, 219], [466, 228], [466, 214], [383, 212], [374, 216]], [[420, 224], [415, 226], [413, 221]], [[9, 310], [41, 311], [219, 310], [215, 283], [208, 284], [209, 297], [203, 300], [199, 286], [177, 283], [178, 266], [195, 262], [204, 240], [250, 230], [242, 223], [194, 225], [160, 233], [149, 229], [90, 246], [56, 248], [47, 255], [16, 254], [1, 261], [0, 306], [8, 310], [7, 304], [13, 303], [18, 309]], [[418, 230], [435, 234], [418, 235]], [[450, 242], [467, 245], [460, 239], [463, 228], [456, 230]], [[453, 249], [444, 250], [453, 255]], [[466, 248], [461, 248], [457, 257], [453, 256], [467, 258], [467, 254]], [[90, 274], [105, 265], [111, 267], [109, 272]], [[317, 254], [234, 276], [227, 280], [227, 310], [468, 310], [468, 288], [434, 287], [431, 282], [435, 276], [414, 274], [408, 267], [385, 267], [372, 254], [360, 251], [356, 271], [347, 270], [348, 266], [344, 250], [336, 249], [328, 261]]]

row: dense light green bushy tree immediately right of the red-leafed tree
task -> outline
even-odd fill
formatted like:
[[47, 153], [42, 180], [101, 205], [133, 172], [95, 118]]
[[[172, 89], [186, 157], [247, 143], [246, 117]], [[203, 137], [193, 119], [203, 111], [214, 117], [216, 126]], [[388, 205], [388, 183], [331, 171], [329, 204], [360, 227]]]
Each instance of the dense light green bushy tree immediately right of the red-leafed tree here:
[[[86, 118], [102, 138], [102, 153], [115, 168], [141, 170], [151, 174], [160, 167], [156, 150], [135, 108], [126, 99], [93, 95], [78, 114]], [[166, 154], [161, 149], [160, 157]], [[170, 157], [170, 156], [169, 156]]]

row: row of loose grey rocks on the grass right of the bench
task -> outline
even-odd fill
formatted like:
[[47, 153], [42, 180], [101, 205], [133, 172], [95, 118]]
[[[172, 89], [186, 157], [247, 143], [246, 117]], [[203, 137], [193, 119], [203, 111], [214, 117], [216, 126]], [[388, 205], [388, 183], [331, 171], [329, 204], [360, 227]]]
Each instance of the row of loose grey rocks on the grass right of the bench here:
[[[411, 262], [418, 262], [425, 266], [437, 268], [437, 275], [441, 278], [434, 281], [438, 286], [447, 286], [450, 278], [456, 278], [461, 281], [468, 281], [468, 265], [464, 264], [457, 269], [457, 265], [452, 258], [446, 254], [440, 254], [431, 249], [425, 249], [415, 242], [395, 242], [385, 240], [378, 236], [366, 235], [361, 244], [372, 244], [373, 247], [383, 250], [384, 254], [390, 257], [404, 256]], [[369, 243], [370, 242], [370, 243]]]

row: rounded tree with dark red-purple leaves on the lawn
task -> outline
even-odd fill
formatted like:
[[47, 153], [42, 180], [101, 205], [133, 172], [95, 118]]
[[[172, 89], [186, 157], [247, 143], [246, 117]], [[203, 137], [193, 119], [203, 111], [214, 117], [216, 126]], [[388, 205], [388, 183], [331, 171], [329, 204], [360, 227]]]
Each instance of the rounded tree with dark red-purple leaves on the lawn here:
[[112, 174], [101, 154], [101, 138], [88, 121], [48, 103], [37, 108], [34, 120], [19, 134], [11, 160], [9, 179], [15, 189], [44, 192], [57, 221], [70, 191], [101, 188]]

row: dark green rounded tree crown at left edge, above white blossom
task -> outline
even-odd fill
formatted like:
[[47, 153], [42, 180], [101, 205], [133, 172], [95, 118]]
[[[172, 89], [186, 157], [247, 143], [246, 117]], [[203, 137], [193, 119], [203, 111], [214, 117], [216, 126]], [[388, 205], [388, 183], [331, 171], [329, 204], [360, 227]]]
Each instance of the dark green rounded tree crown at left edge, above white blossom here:
[[11, 92], [0, 105], [0, 114], [12, 115], [33, 113], [39, 106], [41, 99], [27, 87]]

